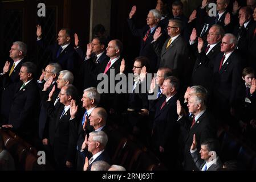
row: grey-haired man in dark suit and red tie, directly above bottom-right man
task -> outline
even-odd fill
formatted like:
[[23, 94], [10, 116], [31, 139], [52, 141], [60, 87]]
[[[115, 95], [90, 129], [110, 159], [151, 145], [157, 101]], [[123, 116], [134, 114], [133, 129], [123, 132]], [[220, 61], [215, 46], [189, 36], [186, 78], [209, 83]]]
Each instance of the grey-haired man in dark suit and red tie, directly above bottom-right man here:
[[180, 101], [177, 102], [178, 123], [187, 131], [184, 146], [184, 169], [198, 170], [190, 154], [190, 146], [193, 143], [193, 135], [197, 136], [197, 150], [200, 149], [201, 143], [208, 138], [216, 138], [216, 125], [213, 123], [212, 116], [206, 111], [206, 97], [202, 93], [194, 93], [189, 97], [189, 113], [194, 115], [193, 121], [182, 114]]

